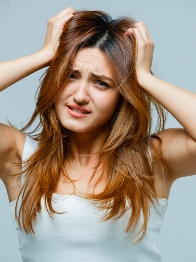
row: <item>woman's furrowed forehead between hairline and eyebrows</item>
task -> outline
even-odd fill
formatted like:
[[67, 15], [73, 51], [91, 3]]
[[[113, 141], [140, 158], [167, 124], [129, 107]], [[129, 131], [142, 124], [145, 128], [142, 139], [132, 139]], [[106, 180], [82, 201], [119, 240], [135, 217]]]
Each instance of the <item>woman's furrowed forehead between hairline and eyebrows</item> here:
[[85, 47], [81, 49], [74, 59], [73, 68], [104, 74], [112, 78], [111, 68], [104, 54], [98, 48]]

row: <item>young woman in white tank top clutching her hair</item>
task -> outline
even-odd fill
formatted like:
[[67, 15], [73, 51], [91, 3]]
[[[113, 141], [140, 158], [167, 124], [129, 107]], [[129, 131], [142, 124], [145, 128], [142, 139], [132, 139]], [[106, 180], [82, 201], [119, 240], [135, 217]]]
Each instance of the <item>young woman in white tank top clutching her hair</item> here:
[[23, 261], [160, 261], [171, 185], [196, 174], [196, 94], [153, 76], [153, 50], [144, 22], [68, 7], [39, 52], [0, 63], [1, 91], [49, 66], [29, 123], [0, 124]]

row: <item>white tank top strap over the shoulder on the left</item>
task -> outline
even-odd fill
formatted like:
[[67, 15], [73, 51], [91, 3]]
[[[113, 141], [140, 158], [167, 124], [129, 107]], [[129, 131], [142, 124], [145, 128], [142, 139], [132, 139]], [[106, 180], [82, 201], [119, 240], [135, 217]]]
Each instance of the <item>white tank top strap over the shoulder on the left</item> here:
[[[26, 135], [26, 134], [25, 134]], [[28, 135], [26, 135], [26, 139], [25, 139], [25, 145], [23, 148], [23, 152], [22, 152], [22, 161], [26, 160], [27, 158], [29, 158], [31, 156], [31, 154], [35, 151], [36, 146], [37, 146], [37, 141], [33, 140], [31, 137], [29, 137]], [[22, 165], [22, 171], [25, 169], [26, 167], [24, 167]], [[21, 187], [25, 181], [25, 174], [23, 173], [21, 176]]]

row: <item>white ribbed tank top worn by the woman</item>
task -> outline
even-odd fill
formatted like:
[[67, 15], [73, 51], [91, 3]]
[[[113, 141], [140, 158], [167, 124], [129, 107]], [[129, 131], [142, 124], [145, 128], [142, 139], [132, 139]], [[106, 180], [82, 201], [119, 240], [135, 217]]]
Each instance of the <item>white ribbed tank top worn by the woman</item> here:
[[[36, 150], [37, 142], [26, 135], [22, 160]], [[150, 151], [149, 151], [150, 152]], [[23, 168], [23, 167], [22, 167]], [[22, 176], [22, 184], [24, 177]], [[144, 238], [136, 245], [129, 240], [139, 232], [143, 225], [143, 212], [133, 233], [123, 232], [131, 214], [129, 209], [118, 220], [100, 221], [105, 210], [99, 211], [89, 200], [76, 195], [53, 194], [53, 208], [64, 214], [47, 213], [42, 197], [41, 213], [37, 213], [33, 223], [34, 234], [26, 234], [19, 229], [15, 220], [16, 199], [9, 202], [13, 223], [17, 230], [22, 260], [34, 261], [69, 261], [69, 262], [155, 262], [161, 261], [160, 228], [168, 206], [166, 198], [160, 198], [156, 212], [151, 204], [150, 217]], [[21, 201], [21, 196], [20, 196]], [[19, 202], [21, 203], [21, 202]], [[128, 201], [127, 201], [128, 203]], [[20, 205], [19, 205], [20, 206]], [[19, 211], [17, 207], [17, 213]], [[117, 217], [117, 216], [116, 216]], [[138, 238], [137, 238], [138, 239]], [[135, 239], [134, 239], [135, 241]]]

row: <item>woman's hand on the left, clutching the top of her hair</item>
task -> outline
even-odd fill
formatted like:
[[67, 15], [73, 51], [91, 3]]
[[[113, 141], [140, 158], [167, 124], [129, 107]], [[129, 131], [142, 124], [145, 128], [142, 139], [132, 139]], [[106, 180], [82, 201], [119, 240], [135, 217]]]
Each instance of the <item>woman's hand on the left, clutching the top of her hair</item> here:
[[74, 12], [75, 10], [69, 6], [48, 19], [45, 42], [40, 51], [47, 55], [49, 64], [58, 48], [58, 37], [61, 35], [67, 20], [74, 15]]

